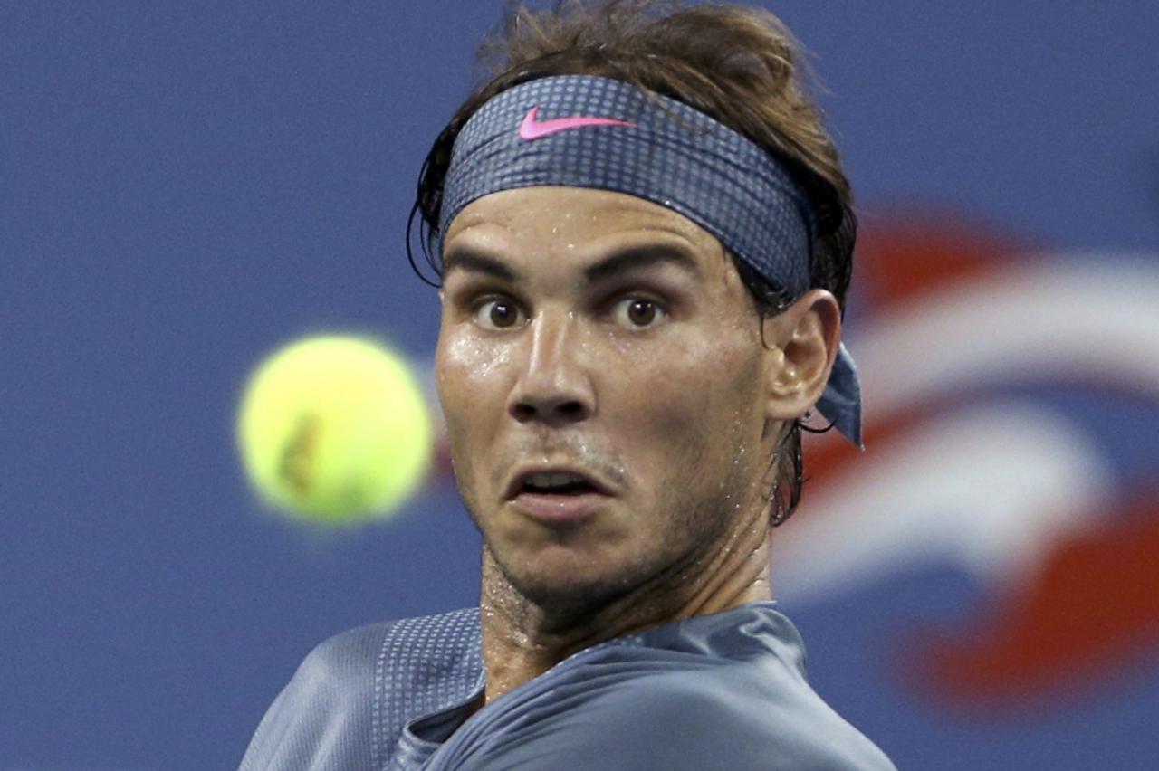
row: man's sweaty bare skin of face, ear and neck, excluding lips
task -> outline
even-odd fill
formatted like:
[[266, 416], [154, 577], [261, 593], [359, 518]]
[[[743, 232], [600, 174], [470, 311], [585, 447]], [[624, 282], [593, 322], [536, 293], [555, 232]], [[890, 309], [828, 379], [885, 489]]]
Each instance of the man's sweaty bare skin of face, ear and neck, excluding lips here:
[[[775, 446], [829, 377], [833, 296], [812, 289], [761, 330], [716, 238], [577, 188], [472, 203], [444, 264], [436, 375], [484, 543], [486, 700], [593, 644], [771, 599]], [[508, 500], [527, 464], [610, 494], [545, 522]]]

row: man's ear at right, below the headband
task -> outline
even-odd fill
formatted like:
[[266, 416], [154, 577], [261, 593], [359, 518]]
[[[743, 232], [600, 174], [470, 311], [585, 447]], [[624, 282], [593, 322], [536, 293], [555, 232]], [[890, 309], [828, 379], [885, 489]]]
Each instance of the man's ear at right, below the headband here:
[[766, 416], [794, 420], [821, 398], [841, 340], [841, 310], [826, 289], [810, 289], [764, 322], [768, 351]]

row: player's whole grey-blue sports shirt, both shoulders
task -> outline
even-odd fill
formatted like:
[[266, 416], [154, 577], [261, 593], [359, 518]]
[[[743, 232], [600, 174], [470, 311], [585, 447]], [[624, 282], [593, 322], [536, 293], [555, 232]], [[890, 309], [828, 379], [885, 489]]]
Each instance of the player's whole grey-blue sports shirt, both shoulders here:
[[602, 642], [471, 714], [484, 684], [478, 609], [344, 632], [241, 769], [894, 769], [809, 686], [772, 602]]

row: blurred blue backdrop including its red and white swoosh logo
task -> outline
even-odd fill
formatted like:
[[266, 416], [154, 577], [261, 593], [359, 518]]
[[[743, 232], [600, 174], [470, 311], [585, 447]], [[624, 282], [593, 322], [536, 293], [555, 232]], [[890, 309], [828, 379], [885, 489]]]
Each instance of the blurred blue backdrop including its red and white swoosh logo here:
[[[903, 769], [1159, 757], [1159, 6], [770, 2], [863, 237], [867, 445], [811, 442], [774, 590]], [[403, 227], [497, 0], [0, 3], [0, 768], [239, 762], [320, 640], [473, 604], [445, 470], [262, 509], [249, 370], [319, 331], [429, 379]]]

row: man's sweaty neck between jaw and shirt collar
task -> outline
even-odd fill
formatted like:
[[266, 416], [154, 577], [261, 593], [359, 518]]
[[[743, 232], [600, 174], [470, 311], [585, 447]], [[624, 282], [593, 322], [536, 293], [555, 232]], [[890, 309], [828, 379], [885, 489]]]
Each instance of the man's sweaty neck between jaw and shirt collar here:
[[483, 549], [486, 702], [538, 677], [573, 653], [669, 622], [772, 600], [770, 533], [759, 517], [706, 559], [693, 559], [610, 601], [537, 603]]

